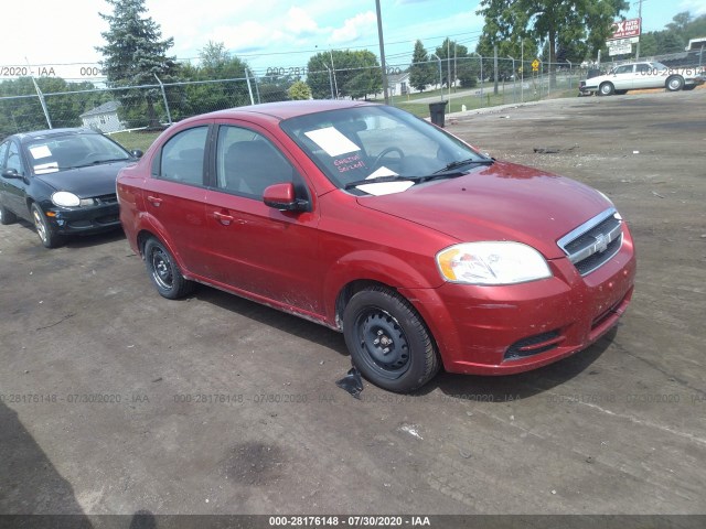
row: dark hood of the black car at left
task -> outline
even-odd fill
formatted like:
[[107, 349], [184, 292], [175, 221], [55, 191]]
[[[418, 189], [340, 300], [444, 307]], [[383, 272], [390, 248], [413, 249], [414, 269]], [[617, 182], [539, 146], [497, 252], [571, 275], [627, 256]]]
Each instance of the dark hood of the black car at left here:
[[118, 171], [130, 163], [135, 163], [135, 160], [67, 169], [55, 173], [38, 174], [34, 177], [56, 191], [69, 191], [81, 198], [90, 198], [115, 194], [115, 179]]

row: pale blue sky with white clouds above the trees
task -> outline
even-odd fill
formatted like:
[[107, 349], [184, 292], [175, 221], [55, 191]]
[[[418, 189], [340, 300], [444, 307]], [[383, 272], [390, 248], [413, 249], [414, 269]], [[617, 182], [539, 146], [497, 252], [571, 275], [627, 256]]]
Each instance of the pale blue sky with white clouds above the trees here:
[[[182, 9], [189, 3], [197, 6]], [[385, 54], [391, 66], [407, 66], [414, 43], [431, 53], [449, 36], [474, 50], [483, 20], [478, 0], [381, 0]], [[623, 14], [637, 18], [638, 0]], [[264, 75], [267, 68], [303, 67], [309, 57], [328, 50], [368, 48], [379, 56], [375, 0], [146, 0], [148, 15], [173, 36], [170, 55], [197, 63], [210, 42], [223, 42], [234, 55]], [[682, 11], [706, 14], [706, 0], [643, 0], [643, 31], [661, 30]], [[110, 13], [104, 0], [33, 0], [11, 2], [0, 32], [0, 79], [13, 74], [52, 75], [94, 80], [101, 56], [95, 46]], [[30, 66], [28, 66], [28, 64]], [[99, 77], [99, 76], [98, 76]]]

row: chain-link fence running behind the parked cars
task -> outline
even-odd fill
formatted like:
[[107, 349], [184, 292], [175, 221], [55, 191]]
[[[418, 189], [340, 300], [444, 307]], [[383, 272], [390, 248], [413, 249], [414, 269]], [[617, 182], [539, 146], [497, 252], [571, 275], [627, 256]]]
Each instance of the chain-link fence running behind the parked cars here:
[[[550, 67], [552, 66], [552, 67]], [[448, 100], [447, 112], [552, 97], [578, 87], [586, 71], [561, 63], [512, 57], [440, 58], [426, 63], [387, 65], [389, 102], [420, 117], [429, 102]], [[183, 80], [129, 87], [42, 91], [38, 82], [24, 83], [23, 94], [0, 93], [0, 138], [28, 130], [89, 127], [103, 132], [158, 129], [199, 114], [260, 102], [298, 98], [295, 84], [306, 83], [314, 99], [383, 100], [379, 66], [267, 68], [243, 78]], [[65, 84], [73, 86], [86, 86]], [[0, 85], [1, 86], [1, 85]], [[301, 93], [299, 93], [301, 94]]]

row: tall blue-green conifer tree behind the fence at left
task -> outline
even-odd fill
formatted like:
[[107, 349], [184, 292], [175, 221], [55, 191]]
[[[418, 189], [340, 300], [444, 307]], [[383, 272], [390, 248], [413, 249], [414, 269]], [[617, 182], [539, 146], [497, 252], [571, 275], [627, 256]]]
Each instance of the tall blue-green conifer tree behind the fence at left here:
[[[167, 56], [167, 51], [173, 46], [174, 40], [161, 40], [162, 32], [151, 18], [143, 17], [147, 12], [145, 0], [106, 0], [113, 6], [113, 14], [100, 14], [108, 22], [108, 31], [101, 35], [105, 46], [96, 46], [104, 56], [103, 73], [110, 87], [132, 87], [153, 85], [157, 75], [160, 80], [172, 80], [176, 72], [174, 57]], [[158, 127], [159, 118], [156, 111], [159, 101], [159, 89], [147, 91], [126, 90], [120, 96], [121, 111], [126, 121], [143, 116], [147, 112], [149, 126]]]

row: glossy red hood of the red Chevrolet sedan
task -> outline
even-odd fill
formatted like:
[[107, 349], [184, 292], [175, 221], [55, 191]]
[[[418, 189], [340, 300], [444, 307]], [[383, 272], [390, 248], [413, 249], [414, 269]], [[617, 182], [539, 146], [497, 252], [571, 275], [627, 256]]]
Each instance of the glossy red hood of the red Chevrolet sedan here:
[[548, 259], [565, 257], [558, 239], [611, 207], [587, 185], [505, 162], [403, 193], [360, 196], [357, 202], [459, 241], [524, 242]]

